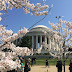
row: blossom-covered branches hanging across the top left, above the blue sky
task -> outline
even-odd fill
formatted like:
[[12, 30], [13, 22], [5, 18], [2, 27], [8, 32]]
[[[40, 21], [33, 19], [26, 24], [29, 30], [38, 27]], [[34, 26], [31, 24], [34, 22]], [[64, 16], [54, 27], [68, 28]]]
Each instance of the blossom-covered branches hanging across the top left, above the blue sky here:
[[[45, 2], [46, 0], [43, 0]], [[51, 5], [53, 7], [53, 5]], [[41, 3], [31, 4], [30, 0], [0, 0], [0, 11], [4, 11], [8, 13], [8, 10], [12, 10], [13, 8], [19, 9], [23, 8], [24, 13], [30, 15], [47, 15], [48, 14], [48, 5], [41, 6]], [[4, 13], [0, 12], [0, 16]], [[2, 18], [0, 17], [0, 21]]]

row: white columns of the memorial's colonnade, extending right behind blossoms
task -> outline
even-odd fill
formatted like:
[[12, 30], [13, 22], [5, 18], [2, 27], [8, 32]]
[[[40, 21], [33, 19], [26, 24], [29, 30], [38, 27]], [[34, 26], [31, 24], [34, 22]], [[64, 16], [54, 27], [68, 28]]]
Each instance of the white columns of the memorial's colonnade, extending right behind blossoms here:
[[[40, 38], [38, 39], [38, 37], [40, 37]], [[36, 43], [36, 49], [38, 48], [38, 40], [40, 40], [40, 47], [42, 47], [42, 42], [43, 42], [42, 37], [44, 37], [44, 42], [46, 44], [47, 43], [49, 44], [49, 48], [50, 49], [53, 48], [53, 46], [51, 45], [51, 42], [55, 42], [54, 38], [51, 40], [51, 38], [46, 35], [36, 35], [36, 40], [34, 40], [35, 36], [32, 36], [32, 48], [34, 49], [35, 43]], [[47, 40], [47, 38], [48, 38], [48, 40]], [[36, 42], [34, 42], [34, 41], [36, 41]], [[56, 50], [58, 50], [58, 43], [55, 43], [55, 48], [56, 48]]]

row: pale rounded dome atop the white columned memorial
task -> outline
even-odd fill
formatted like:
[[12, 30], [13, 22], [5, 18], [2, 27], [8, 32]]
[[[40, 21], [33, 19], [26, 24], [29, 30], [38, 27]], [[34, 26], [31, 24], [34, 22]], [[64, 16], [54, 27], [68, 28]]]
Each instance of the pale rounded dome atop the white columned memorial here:
[[26, 35], [27, 36], [32, 36], [32, 35], [49, 35], [50, 28], [44, 25], [37, 25], [33, 27]]

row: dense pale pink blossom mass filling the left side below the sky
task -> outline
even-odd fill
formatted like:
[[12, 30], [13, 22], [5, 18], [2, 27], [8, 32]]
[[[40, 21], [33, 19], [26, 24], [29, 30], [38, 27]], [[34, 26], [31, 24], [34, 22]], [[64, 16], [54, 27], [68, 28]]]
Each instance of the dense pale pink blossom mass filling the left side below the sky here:
[[[7, 72], [21, 67], [18, 56], [33, 55], [33, 50], [27, 47], [16, 47], [12, 41], [24, 36], [28, 29], [24, 28], [13, 34], [12, 30], [6, 30], [3, 25], [0, 25], [0, 71]], [[3, 49], [11, 49], [12, 51], [3, 52]], [[15, 61], [14, 58], [16, 59]]]

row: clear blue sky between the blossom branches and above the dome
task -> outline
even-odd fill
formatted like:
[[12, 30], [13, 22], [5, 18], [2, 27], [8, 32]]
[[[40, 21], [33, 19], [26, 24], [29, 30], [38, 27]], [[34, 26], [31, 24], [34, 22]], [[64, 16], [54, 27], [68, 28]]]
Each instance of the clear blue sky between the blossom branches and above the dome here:
[[[31, 3], [41, 2], [42, 0], [30, 0]], [[50, 28], [48, 21], [56, 23], [58, 19], [56, 16], [64, 16], [65, 20], [70, 21], [72, 19], [72, 0], [47, 0], [45, 4], [54, 7], [51, 9], [51, 14], [48, 14], [46, 18], [39, 22], [37, 25], [45, 25]], [[43, 5], [43, 3], [42, 3]], [[8, 25], [7, 29], [12, 29], [16, 33], [20, 28], [26, 27], [29, 28], [35, 24], [38, 20], [44, 16], [31, 16], [30, 14], [24, 14], [23, 9], [13, 9], [12, 11], [8, 10], [9, 16], [6, 17], [6, 20], [0, 22], [0, 24]], [[12, 14], [12, 15], [10, 15]]]

